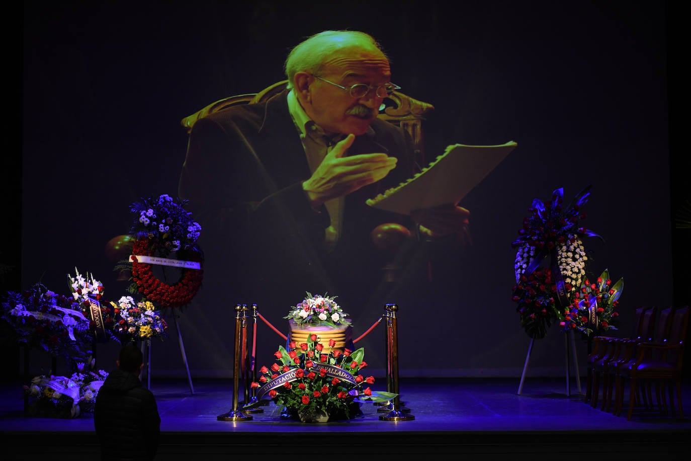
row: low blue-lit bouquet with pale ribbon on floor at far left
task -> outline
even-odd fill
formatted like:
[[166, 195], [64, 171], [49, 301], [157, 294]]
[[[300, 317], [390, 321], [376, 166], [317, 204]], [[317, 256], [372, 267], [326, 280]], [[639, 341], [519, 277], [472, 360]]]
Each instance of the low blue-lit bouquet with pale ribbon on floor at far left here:
[[[94, 361], [91, 361], [93, 367]], [[70, 377], [37, 376], [24, 393], [31, 400], [29, 414], [34, 417], [73, 418], [93, 415], [96, 395], [108, 373], [86, 370], [84, 363]]]

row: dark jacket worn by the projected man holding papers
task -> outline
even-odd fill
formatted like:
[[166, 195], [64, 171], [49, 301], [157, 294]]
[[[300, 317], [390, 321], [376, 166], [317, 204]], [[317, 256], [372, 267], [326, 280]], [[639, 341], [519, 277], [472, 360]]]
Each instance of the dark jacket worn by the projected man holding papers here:
[[[286, 93], [198, 120], [179, 195], [189, 200], [187, 209], [202, 225], [205, 286], [216, 291], [231, 281], [232, 291], [226, 293], [231, 300], [278, 305], [281, 312], [306, 290], [339, 295], [341, 302], [349, 294], [375, 290], [387, 261], [370, 233], [384, 223], [411, 223], [407, 216], [369, 207], [366, 200], [410, 178], [414, 153], [398, 126], [375, 120], [372, 128], [373, 133], [356, 137], [348, 155], [384, 152], [398, 158], [397, 167], [346, 196], [343, 232], [327, 253], [328, 211], [312, 210], [302, 189], [311, 173]], [[354, 305], [363, 301], [350, 299]]]

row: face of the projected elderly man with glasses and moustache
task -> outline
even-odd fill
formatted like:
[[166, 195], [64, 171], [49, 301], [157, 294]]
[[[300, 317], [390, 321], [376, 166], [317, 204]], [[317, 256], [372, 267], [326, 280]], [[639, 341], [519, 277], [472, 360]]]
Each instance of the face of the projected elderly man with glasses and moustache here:
[[[348, 89], [310, 76], [307, 102], [303, 104], [307, 115], [327, 133], [365, 133], [384, 100], [377, 96], [376, 88], [391, 81], [384, 55], [379, 50], [351, 49], [326, 62], [319, 77]], [[363, 97], [356, 98], [350, 95], [350, 87], [354, 84], [372, 88]]]

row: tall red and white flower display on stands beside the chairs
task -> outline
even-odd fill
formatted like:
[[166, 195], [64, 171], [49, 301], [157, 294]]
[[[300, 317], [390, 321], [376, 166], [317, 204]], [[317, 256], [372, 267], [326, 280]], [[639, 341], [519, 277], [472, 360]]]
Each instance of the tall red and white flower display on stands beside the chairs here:
[[[596, 283], [586, 276], [589, 258], [583, 245], [585, 236], [598, 236], [579, 225], [586, 214], [590, 186], [564, 205], [563, 189], [552, 192], [551, 200], [533, 200], [531, 215], [523, 220], [514, 270], [513, 301], [521, 326], [531, 338], [547, 335], [553, 321], [562, 330], [580, 330], [589, 336], [595, 330], [616, 329], [614, 310], [623, 290], [623, 279], [612, 285], [609, 271]], [[596, 303], [599, 303], [596, 305]]]

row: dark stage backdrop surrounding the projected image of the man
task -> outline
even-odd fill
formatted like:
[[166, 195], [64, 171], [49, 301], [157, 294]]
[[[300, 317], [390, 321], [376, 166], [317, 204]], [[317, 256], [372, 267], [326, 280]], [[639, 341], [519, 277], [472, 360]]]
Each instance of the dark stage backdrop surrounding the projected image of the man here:
[[[511, 242], [533, 198], [547, 200], [559, 187], [569, 200], [592, 185], [584, 223], [605, 243], [586, 246], [593, 272], [608, 268], [625, 279], [622, 334], [632, 329], [634, 306], [672, 304], [662, 2], [24, 5], [22, 288], [43, 281], [67, 294], [77, 267], [104, 282], [108, 298], [126, 294], [113, 272], [122, 255], [106, 252], [107, 243], [129, 231], [135, 200], [176, 194], [182, 117], [283, 79], [292, 46], [348, 28], [379, 39], [393, 81], [435, 105], [424, 125], [428, 158], [448, 144], [518, 142], [460, 203], [471, 210], [473, 245], [445, 268], [455, 271], [451, 286], [415, 303], [391, 300], [400, 308], [401, 375], [520, 376], [530, 339], [511, 301]], [[285, 330], [282, 317], [298, 301], [259, 307]], [[234, 297], [234, 281], [207, 283], [182, 312], [193, 377], [231, 375], [238, 302], [252, 301]], [[383, 312], [343, 308], [356, 336]], [[170, 332], [153, 344], [154, 375], [185, 373]], [[259, 334], [258, 362], [269, 364], [281, 339], [263, 323]], [[576, 345], [582, 361], [587, 344], [576, 337]], [[383, 370], [383, 326], [358, 346]], [[552, 326], [536, 341], [529, 376], [564, 367], [565, 338]]]

